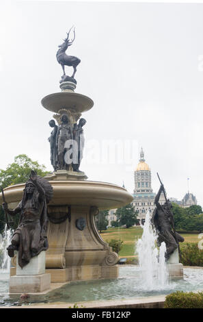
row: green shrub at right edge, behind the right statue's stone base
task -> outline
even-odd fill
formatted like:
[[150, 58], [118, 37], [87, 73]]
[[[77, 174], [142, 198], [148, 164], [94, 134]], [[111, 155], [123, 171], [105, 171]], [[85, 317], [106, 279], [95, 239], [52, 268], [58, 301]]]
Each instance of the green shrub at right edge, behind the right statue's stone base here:
[[198, 248], [198, 243], [180, 245], [180, 253], [183, 265], [203, 267], [203, 249]]

